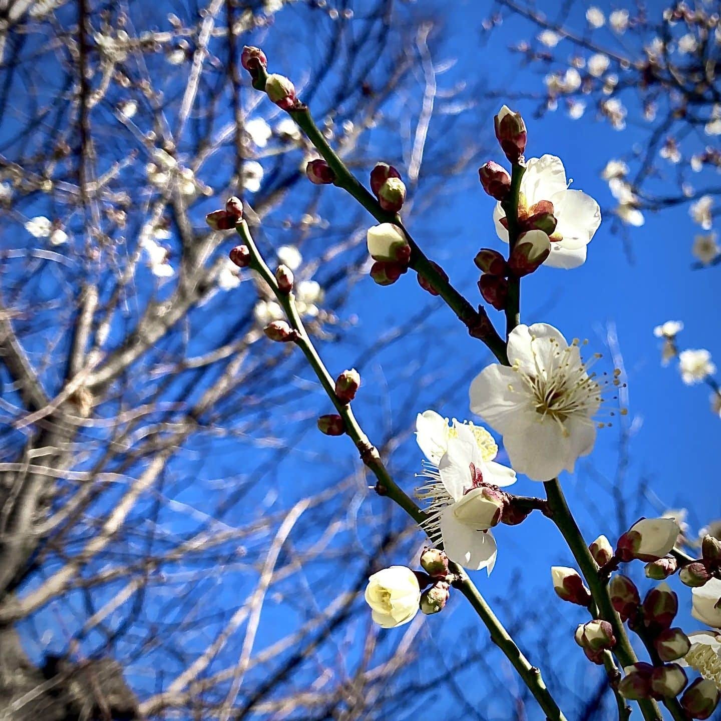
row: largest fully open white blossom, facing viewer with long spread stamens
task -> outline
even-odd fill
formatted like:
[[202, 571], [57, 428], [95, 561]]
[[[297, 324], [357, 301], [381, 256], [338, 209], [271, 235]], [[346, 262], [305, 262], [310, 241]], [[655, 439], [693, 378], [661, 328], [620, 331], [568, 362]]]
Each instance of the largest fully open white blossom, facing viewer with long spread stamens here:
[[518, 325], [508, 336], [508, 361], [510, 367], [493, 363], [476, 376], [471, 410], [503, 435], [517, 472], [535, 481], [572, 472], [576, 460], [593, 449], [593, 416], [603, 401], [578, 341], [568, 345], [545, 323]]

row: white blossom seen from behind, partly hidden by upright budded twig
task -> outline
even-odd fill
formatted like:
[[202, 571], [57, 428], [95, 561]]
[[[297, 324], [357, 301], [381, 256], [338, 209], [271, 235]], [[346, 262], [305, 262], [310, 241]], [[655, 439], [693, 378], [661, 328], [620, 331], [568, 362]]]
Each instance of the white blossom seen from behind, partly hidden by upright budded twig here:
[[[544, 265], [561, 268], [583, 265], [586, 246], [601, 224], [601, 208], [596, 200], [581, 190], [568, 189], [563, 163], [553, 155], [528, 160], [521, 178], [521, 193], [526, 208], [532, 208], [541, 200], [553, 203], [558, 222], [551, 237], [551, 253]], [[508, 243], [508, 231], [501, 224], [501, 218], [505, 218], [505, 212], [497, 203], [493, 211], [496, 233]]]

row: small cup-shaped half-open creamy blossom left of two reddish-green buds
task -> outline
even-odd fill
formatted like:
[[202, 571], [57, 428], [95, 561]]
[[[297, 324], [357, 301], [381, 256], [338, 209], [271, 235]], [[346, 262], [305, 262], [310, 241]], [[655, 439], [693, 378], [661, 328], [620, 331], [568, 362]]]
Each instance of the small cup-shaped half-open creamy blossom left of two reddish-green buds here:
[[420, 585], [410, 568], [391, 566], [368, 578], [366, 603], [373, 621], [384, 629], [407, 624], [418, 612]]

